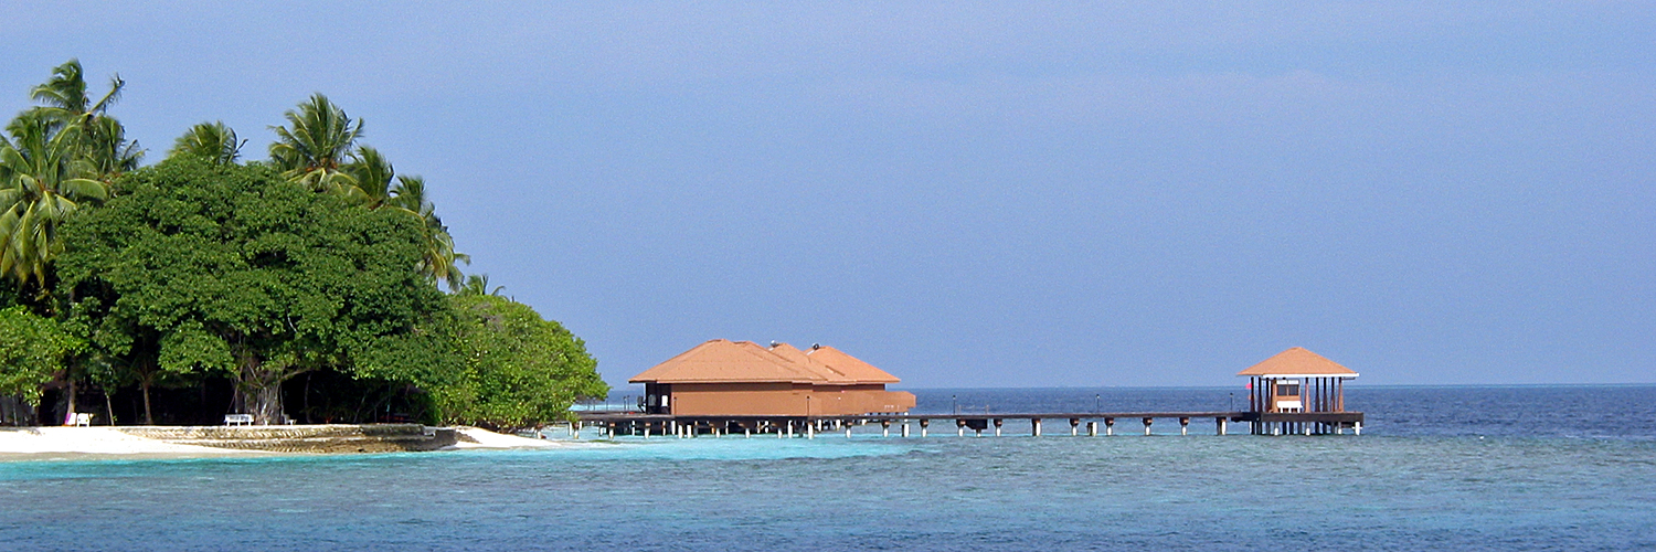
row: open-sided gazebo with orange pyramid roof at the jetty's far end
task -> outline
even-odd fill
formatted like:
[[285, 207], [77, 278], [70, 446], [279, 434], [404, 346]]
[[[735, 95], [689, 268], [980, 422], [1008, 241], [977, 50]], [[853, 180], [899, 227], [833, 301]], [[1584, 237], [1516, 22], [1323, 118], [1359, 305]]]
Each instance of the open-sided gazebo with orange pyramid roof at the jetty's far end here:
[[[1255, 414], [1345, 413], [1345, 381], [1358, 373], [1295, 346], [1237, 373], [1249, 378]], [[1265, 419], [1268, 416], [1260, 416]], [[1292, 431], [1292, 429], [1290, 429]]]

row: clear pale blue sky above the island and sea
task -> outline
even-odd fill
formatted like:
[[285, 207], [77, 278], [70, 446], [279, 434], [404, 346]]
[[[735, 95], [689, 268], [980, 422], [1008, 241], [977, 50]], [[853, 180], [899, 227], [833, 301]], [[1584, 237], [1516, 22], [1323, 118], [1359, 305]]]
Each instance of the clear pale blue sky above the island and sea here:
[[613, 385], [712, 338], [903, 386], [1656, 383], [1656, 5], [0, 5], [161, 161], [321, 91]]

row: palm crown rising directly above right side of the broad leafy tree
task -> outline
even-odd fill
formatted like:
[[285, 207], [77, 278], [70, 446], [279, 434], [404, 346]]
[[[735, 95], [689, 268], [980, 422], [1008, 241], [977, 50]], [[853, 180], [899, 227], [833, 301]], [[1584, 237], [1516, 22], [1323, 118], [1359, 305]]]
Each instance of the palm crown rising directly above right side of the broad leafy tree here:
[[356, 179], [344, 171], [353, 161], [363, 121], [351, 121], [344, 109], [321, 93], [311, 94], [298, 109], [283, 114], [288, 126], [272, 126], [277, 143], [270, 144], [270, 161], [277, 169], [315, 191], [344, 197], [363, 197]]

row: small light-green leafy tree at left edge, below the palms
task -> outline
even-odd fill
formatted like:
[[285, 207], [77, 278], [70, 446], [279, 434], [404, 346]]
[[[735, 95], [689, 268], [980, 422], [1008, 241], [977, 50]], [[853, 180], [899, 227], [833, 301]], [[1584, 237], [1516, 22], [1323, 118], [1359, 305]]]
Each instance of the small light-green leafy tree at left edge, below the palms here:
[[40, 404], [41, 386], [56, 378], [66, 358], [84, 346], [58, 320], [38, 317], [23, 307], [0, 310], [0, 395]]

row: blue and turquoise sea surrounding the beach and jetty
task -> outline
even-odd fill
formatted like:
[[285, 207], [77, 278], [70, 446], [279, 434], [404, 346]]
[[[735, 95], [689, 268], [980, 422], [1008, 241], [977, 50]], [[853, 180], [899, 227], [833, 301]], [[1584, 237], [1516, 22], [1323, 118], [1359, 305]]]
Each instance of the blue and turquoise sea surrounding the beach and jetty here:
[[[921, 390], [917, 411], [1232, 390]], [[1239, 398], [1240, 399], [1240, 398]], [[0, 462], [7, 550], [1656, 549], [1656, 386], [1361, 388], [1363, 436], [697, 438]], [[1012, 428], [1009, 428], [1012, 429]], [[1136, 428], [1121, 428], [1136, 429]], [[1131, 431], [1123, 431], [1131, 433]], [[1017, 434], [1017, 436], [1012, 436]], [[591, 436], [590, 431], [586, 434]]]

